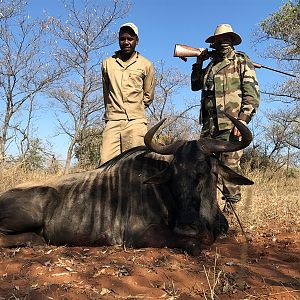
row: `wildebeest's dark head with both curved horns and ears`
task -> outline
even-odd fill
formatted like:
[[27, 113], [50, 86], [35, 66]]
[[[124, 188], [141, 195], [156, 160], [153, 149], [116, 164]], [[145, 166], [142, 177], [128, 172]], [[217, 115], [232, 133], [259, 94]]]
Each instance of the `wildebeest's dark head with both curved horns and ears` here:
[[168, 182], [178, 207], [175, 232], [193, 237], [202, 236], [203, 242], [209, 244], [221, 232], [228, 230], [227, 220], [217, 203], [218, 174], [235, 184], [253, 184], [251, 180], [223, 165], [215, 156], [216, 153], [241, 150], [252, 140], [252, 134], [245, 125], [226, 115], [241, 132], [241, 141], [201, 138], [194, 141], [179, 140], [162, 146], [153, 142], [153, 136], [165, 119], [145, 136], [145, 144], [153, 152], [173, 155], [168, 167], [148, 178], [145, 183]]

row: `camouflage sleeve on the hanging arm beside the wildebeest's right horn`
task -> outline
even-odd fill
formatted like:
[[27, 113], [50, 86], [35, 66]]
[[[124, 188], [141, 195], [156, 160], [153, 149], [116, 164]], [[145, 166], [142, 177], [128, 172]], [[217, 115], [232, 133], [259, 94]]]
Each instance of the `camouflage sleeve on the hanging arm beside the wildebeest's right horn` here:
[[242, 102], [238, 118], [249, 123], [257, 112], [260, 91], [254, 65], [245, 54], [241, 61], [241, 81]]

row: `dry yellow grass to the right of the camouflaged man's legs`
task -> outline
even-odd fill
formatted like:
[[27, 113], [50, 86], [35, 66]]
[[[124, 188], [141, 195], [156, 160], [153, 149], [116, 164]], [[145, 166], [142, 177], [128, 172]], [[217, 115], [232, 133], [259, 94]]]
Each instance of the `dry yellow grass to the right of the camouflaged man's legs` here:
[[273, 223], [299, 229], [299, 172], [289, 178], [279, 173], [270, 179], [265, 173], [256, 171], [248, 173], [247, 177], [255, 183], [242, 188], [242, 201], [236, 205], [244, 228], [251, 230]]

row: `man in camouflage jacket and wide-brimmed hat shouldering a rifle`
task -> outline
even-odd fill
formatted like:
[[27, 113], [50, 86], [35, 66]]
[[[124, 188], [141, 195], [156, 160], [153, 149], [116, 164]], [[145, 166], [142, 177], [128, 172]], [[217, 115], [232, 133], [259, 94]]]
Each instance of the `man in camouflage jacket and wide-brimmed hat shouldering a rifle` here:
[[[234, 45], [241, 43], [241, 37], [233, 32], [229, 24], [217, 26], [214, 35], [206, 39], [214, 49], [212, 55], [206, 49], [193, 65], [191, 86], [193, 91], [202, 90], [200, 124], [201, 136], [222, 140], [239, 139], [239, 131], [233, 127], [224, 111], [241, 120], [250, 122], [259, 105], [260, 95], [253, 63], [249, 57], [236, 51]], [[203, 61], [212, 56], [203, 68]], [[240, 171], [243, 151], [222, 154], [225, 165]], [[223, 179], [223, 199], [237, 202], [241, 199], [240, 186]]]

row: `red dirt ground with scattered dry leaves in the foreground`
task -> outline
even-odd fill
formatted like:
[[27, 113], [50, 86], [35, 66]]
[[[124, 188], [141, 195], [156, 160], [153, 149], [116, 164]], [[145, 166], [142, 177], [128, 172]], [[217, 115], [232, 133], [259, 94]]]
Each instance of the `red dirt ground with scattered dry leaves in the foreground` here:
[[0, 300], [300, 299], [299, 231], [233, 230], [198, 257], [176, 249], [0, 249]]

